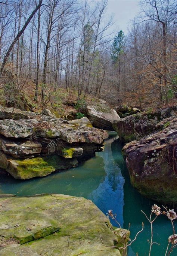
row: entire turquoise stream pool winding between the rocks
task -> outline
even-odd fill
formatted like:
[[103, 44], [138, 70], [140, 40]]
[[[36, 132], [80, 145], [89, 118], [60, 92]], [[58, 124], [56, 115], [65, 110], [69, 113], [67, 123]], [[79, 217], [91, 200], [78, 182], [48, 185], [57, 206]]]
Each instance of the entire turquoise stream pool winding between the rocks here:
[[[62, 193], [91, 199], [103, 213], [113, 210], [123, 228], [128, 228], [131, 223], [131, 239], [144, 222], [145, 228], [129, 248], [128, 256], [136, 256], [136, 252], [139, 256], [147, 256], [150, 226], [141, 210], [149, 214], [154, 202], [141, 196], [131, 186], [121, 149], [122, 145], [116, 133], [112, 132], [106, 141], [105, 151], [96, 153], [95, 157], [81, 163], [77, 168], [26, 181], [2, 175], [0, 193], [19, 196]], [[112, 224], [117, 226], [114, 222]], [[153, 233], [154, 241], [160, 245], [153, 245], [151, 256], [165, 255], [167, 239], [172, 234], [170, 221], [164, 216], [159, 216], [153, 225]], [[177, 249], [174, 249], [171, 255], [177, 255]]]

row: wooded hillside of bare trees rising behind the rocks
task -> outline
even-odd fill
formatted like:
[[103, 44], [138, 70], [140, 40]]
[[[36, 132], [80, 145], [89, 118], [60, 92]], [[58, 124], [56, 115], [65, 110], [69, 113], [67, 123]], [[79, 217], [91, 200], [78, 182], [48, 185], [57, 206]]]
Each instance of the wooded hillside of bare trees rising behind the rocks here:
[[43, 109], [86, 95], [142, 109], [174, 103], [175, 1], [140, 1], [126, 35], [112, 31], [107, 5], [1, 1], [1, 104]]

